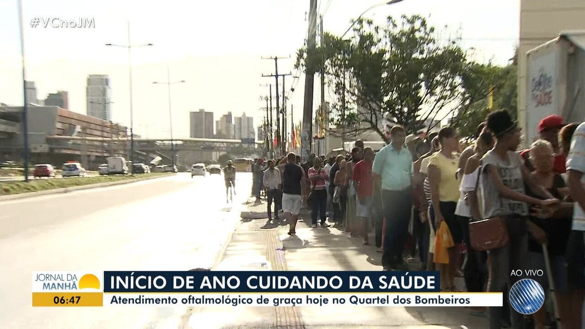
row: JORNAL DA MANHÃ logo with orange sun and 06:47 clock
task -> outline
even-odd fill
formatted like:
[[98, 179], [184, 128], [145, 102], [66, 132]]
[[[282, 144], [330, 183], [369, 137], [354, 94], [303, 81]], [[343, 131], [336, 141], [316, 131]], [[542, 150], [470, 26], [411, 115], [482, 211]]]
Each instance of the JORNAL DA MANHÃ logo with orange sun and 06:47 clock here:
[[33, 272], [33, 306], [104, 306], [102, 276], [78, 271]]

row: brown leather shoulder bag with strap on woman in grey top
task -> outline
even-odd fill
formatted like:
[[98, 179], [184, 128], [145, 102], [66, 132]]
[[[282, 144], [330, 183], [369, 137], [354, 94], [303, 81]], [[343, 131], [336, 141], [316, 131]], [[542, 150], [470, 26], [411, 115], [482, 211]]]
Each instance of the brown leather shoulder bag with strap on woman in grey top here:
[[[476, 191], [480, 179], [481, 167], [480, 172], [477, 174]], [[480, 221], [469, 222], [469, 240], [472, 248], [476, 251], [488, 251], [507, 245], [510, 237], [506, 226], [506, 218], [494, 216]]]

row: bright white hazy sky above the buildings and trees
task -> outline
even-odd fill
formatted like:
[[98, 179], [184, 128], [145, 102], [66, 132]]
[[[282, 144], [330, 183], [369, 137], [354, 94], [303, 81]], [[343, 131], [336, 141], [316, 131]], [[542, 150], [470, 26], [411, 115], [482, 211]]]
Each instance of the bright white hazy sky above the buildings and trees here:
[[[189, 135], [189, 112], [205, 109], [214, 120], [228, 111], [254, 116], [254, 125], [266, 114], [261, 100], [266, 84], [278, 73], [286, 90], [294, 121], [302, 118], [304, 75], [294, 69], [295, 54], [307, 37], [309, 0], [22, 0], [26, 80], [35, 81], [37, 97], [69, 92], [71, 111], [85, 114], [85, 83], [89, 74], [107, 74], [112, 88], [112, 121], [129, 125], [128, 49], [106, 43], [152, 43], [132, 48], [132, 100], [135, 132], [157, 138], [168, 136], [170, 119], [166, 85], [153, 81], [185, 80], [171, 86], [173, 134]], [[376, 0], [320, 0], [326, 32], [342, 35]], [[488, 5], [487, 5], [488, 4]], [[473, 48], [474, 59], [506, 64], [519, 37], [519, 1], [404, 0], [381, 5], [364, 17], [384, 22], [388, 15], [419, 14], [443, 35], [462, 37]], [[22, 105], [18, 0], [0, 0], [0, 102]], [[41, 23], [30, 25], [34, 18]], [[44, 28], [47, 19], [94, 19], [95, 28]], [[8, 32], [8, 33], [5, 33]], [[280, 80], [280, 88], [282, 79]], [[321, 96], [315, 79], [315, 104]], [[294, 92], [291, 92], [294, 87]], [[274, 87], [273, 87], [274, 88]], [[325, 101], [332, 92], [325, 93]], [[274, 90], [273, 90], [274, 96]], [[316, 106], [314, 107], [316, 108]]]

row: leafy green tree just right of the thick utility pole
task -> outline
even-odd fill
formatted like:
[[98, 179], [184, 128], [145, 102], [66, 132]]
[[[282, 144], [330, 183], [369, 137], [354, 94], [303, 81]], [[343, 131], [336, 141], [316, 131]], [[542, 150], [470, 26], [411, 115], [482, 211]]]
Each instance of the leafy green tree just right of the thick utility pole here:
[[439, 39], [422, 16], [402, 16], [400, 25], [388, 17], [385, 26], [360, 19], [353, 32], [352, 40], [326, 33], [311, 63], [306, 48], [297, 54], [298, 68], [324, 68], [333, 87], [330, 133], [374, 131], [388, 142], [386, 124], [414, 133], [469, 102], [463, 78], [473, 63], [466, 50], [457, 38]]

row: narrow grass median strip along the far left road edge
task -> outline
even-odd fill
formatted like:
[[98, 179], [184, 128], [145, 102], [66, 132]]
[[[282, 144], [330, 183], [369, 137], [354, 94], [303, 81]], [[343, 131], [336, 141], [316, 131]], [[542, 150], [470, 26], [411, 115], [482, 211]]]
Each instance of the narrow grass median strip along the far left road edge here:
[[139, 180], [145, 178], [154, 178], [165, 176], [168, 173], [149, 173], [137, 175], [119, 175], [119, 176], [96, 176], [96, 177], [69, 177], [59, 179], [36, 179], [28, 183], [24, 181], [9, 181], [0, 183], [0, 196], [9, 196], [27, 192], [38, 192], [45, 190], [64, 189], [66, 187], [91, 185], [99, 183], [109, 183], [113, 181]]

